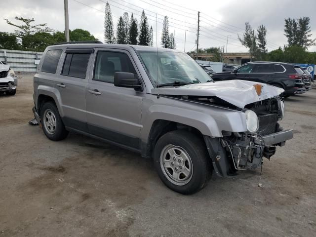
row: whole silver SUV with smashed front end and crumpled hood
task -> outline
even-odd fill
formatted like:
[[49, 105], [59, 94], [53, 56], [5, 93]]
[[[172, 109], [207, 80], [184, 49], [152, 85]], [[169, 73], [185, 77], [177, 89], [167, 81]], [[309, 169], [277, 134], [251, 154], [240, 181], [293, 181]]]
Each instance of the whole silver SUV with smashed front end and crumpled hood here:
[[214, 82], [186, 53], [148, 46], [63, 43], [46, 48], [33, 112], [54, 141], [75, 131], [153, 158], [170, 189], [192, 194], [262, 165], [293, 137], [279, 126], [284, 90]]

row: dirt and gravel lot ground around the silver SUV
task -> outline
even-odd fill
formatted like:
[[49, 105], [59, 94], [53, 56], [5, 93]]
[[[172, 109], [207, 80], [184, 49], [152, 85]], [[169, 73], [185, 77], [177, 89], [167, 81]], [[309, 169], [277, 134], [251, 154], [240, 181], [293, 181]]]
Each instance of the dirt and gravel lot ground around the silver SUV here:
[[286, 99], [295, 138], [260, 170], [215, 176], [199, 193], [167, 189], [150, 160], [33, 118], [33, 75], [0, 96], [0, 237], [316, 236], [316, 89]]

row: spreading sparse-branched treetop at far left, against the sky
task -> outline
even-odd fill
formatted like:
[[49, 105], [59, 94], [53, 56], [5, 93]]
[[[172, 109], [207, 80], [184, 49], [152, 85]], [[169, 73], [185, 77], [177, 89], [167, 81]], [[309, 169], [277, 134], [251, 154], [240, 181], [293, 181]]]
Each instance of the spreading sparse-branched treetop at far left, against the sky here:
[[33, 24], [35, 22], [34, 18], [28, 19], [28, 18], [23, 18], [23, 17], [14, 17], [14, 19], [18, 21], [22, 21], [22, 25], [14, 24], [8, 19], [4, 19], [7, 24], [11, 26], [17, 27], [19, 30], [15, 30], [15, 36], [20, 38], [22, 40], [23, 37], [25, 36], [30, 36], [35, 33], [41, 33], [41, 32], [53, 32], [54, 30], [47, 27], [47, 23], [42, 23], [42, 24]]

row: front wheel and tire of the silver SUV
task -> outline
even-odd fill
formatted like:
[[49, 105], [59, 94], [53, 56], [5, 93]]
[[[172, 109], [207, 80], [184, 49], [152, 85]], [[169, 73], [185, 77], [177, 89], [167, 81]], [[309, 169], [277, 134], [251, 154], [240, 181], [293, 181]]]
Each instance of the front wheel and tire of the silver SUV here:
[[154, 148], [155, 168], [169, 189], [194, 194], [206, 185], [212, 169], [204, 144], [195, 134], [183, 130], [168, 132], [158, 139]]

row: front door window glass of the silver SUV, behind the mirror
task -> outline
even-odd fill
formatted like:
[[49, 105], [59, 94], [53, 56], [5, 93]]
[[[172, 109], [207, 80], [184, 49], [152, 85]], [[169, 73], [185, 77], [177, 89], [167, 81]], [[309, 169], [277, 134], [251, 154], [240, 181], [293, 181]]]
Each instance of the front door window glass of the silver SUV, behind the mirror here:
[[114, 83], [114, 73], [116, 72], [136, 74], [127, 54], [99, 51], [95, 62], [93, 80]]

